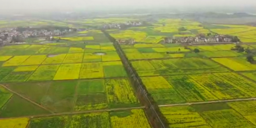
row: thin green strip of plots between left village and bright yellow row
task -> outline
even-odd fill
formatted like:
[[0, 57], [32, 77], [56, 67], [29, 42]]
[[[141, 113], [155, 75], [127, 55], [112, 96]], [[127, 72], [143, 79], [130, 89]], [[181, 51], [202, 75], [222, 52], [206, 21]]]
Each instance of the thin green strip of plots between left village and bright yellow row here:
[[[58, 46], [60, 45], [60, 46]], [[55, 55], [66, 53], [92, 53], [92, 52], [107, 52], [115, 51], [112, 43], [100, 44], [72, 44], [68, 46], [64, 43], [58, 45], [40, 45], [40, 44], [21, 44], [4, 46], [1, 48], [0, 56], [19, 56], [19, 55]]]

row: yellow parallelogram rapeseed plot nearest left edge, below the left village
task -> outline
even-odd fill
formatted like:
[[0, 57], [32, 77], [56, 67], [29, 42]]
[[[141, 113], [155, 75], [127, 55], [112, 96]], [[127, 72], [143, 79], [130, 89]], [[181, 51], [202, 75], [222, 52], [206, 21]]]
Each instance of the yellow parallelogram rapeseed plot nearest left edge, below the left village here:
[[2, 66], [19, 66], [29, 56], [14, 56], [10, 60], [6, 61]]

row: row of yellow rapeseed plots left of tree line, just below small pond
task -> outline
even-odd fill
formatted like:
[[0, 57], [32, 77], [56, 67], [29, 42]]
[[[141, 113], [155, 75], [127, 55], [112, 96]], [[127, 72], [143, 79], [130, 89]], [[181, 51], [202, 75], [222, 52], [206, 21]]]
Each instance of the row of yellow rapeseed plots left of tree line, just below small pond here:
[[[101, 61], [118, 61], [118, 54], [106, 52], [106, 55], [95, 55], [94, 53], [69, 53], [59, 55], [26, 55], [13, 56], [11, 59], [3, 63], [3, 67], [10, 66], [27, 66], [27, 65], [47, 65], [61, 63], [82, 63], [82, 62], [101, 62]], [[10, 58], [9, 56], [1, 56], [2, 59]]]

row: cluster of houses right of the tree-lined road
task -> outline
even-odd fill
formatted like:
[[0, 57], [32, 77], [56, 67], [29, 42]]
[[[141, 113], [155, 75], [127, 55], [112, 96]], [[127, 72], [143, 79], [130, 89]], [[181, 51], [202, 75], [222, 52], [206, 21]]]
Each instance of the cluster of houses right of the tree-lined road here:
[[214, 35], [206, 37], [202, 34], [196, 37], [166, 37], [164, 43], [214, 43], [231, 42], [232, 39], [224, 35]]

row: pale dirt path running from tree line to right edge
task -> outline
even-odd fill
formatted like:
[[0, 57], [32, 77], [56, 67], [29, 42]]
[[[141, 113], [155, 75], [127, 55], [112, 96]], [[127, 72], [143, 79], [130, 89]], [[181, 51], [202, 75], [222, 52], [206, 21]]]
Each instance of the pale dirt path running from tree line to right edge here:
[[217, 102], [253, 101], [253, 100], [256, 100], [256, 98], [230, 99], [230, 100], [219, 100], [219, 101], [203, 101], [203, 102], [187, 102], [187, 103], [183, 103], [183, 104], [165, 104], [165, 105], [159, 105], [159, 107], [183, 106], [183, 105], [192, 105], [192, 104], [208, 104], [208, 103], [217, 103]]

